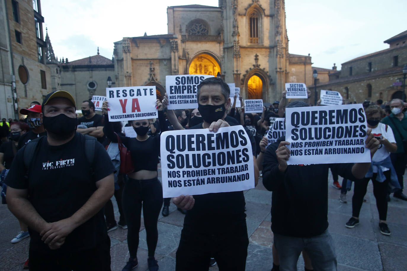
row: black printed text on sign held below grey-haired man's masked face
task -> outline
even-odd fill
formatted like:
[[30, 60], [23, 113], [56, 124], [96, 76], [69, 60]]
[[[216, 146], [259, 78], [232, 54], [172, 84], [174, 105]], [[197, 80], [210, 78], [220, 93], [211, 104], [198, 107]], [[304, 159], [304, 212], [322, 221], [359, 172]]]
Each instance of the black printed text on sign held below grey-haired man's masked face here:
[[[169, 135], [166, 138], [166, 150], [170, 153], [166, 158], [170, 169], [168, 187], [248, 180], [249, 169], [245, 163], [252, 154], [245, 147], [249, 142], [244, 133], [244, 130], [238, 130], [218, 134]], [[242, 148], [225, 150], [239, 146]], [[181, 170], [171, 171], [171, 169]]]

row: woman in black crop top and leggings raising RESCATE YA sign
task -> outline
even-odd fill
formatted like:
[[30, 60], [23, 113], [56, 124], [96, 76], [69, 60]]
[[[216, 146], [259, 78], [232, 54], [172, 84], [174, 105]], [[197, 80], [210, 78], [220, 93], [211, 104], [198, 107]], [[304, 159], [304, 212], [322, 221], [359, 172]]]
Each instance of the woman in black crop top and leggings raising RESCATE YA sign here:
[[[162, 110], [164, 106], [156, 100], [160, 130], [168, 130]], [[104, 134], [112, 141], [117, 142], [112, 122], [107, 117], [108, 102], [104, 101], [102, 111], [105, 114]], [[150, 271], [157, 271], [158, 264], [154, 258], [158, 241], [158, 215], [162, 207], [162, 186], [158, 180], [157, 165], [160, 155], [160, 136], [150, 137], [148, 119], [133, 120], [133, 129], [136, 138], [118, 136], [130, 151], [134, 171], [127, 174], [129, 179], [123, 188], [123, 212], [127, 222], [127, 245], [130, 258], [122, 271], [130, 271], [138, 265], [137, 249], [141, 222], [141, 209], [143, 209], [144, 227], [147, 235], [148, 266]]]

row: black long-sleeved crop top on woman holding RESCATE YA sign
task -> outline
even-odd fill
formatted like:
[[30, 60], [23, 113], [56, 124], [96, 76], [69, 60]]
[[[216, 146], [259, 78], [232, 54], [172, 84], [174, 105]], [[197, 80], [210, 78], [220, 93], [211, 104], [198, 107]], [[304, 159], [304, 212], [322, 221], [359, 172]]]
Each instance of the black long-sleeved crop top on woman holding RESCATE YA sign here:
[[[164, 132], [168, 130], [164, 114], [158, 111], [158, 120], [160, 121], [160, 130]], [[103, 128], [105, 135], [112, 141], [117, 142], [116, 134], [113, 132], [112, 123], [105, 115], [105, 127]], [[120, 136], [122, 143], [130, 150], [131, 160], [134, 165], [134, 172], [144, 170], [157, 171], [157, 164], [160, 163], [158, 156], [160, 155], [160, 136], [149, 137], [147, 140], [138, 141], [136, 138]]]

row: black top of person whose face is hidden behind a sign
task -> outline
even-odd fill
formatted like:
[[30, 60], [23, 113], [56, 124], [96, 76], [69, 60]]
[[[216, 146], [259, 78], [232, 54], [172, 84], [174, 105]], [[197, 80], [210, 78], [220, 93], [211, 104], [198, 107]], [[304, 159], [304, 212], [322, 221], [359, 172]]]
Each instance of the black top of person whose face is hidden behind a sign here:
[[271, 230], [293, 237], [312, 237], [328, 228], [328, 170], [357, 180], [353, 164], [289, 165], [278, 170], [276, 150], [284, 137], [267, 147], [263, 161], [263, 184], [271, 196]]

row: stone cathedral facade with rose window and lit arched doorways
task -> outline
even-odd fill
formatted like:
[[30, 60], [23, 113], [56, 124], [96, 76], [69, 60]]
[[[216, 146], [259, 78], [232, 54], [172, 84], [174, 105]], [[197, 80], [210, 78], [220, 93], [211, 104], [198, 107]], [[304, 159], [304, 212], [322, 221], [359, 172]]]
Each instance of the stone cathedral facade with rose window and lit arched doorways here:
[[210, 74], [244, 99], [279, 100], [286, 82], [312, 84], [311, 57], [289, 54], [284, 0], [219, 0], [167, 8], [168, 33], [114, 43], [116, 86], [155, 85], [165, 76]]

